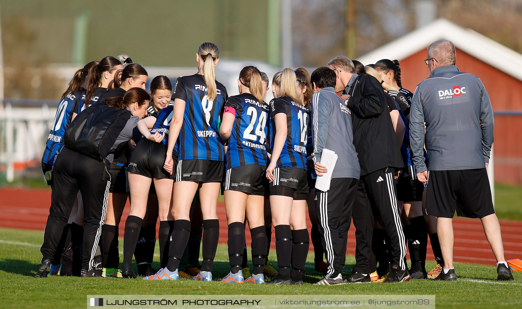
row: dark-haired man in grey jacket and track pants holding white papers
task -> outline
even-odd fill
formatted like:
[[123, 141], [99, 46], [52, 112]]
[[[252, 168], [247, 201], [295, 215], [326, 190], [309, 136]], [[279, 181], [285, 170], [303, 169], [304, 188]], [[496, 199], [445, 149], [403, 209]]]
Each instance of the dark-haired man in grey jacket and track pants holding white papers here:
[[[312, 140], [311, 160], [317, 176], [331, 172], [330, 190], [315, 190], [315, 209], [319, 232], [325, 251], [328, 271], [316, 285], [343, 283], [348, 229], [352, 204], [361, 168], [353, 145], [352, 119], [348, 108], [335, 93], [336, 75], [327, 67], [316, 69], [311, 76]], [[338, 158], [335, 168], [328, 171], [319, 162], [323, 149], [334, 151]]]

